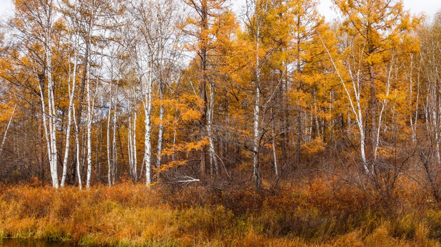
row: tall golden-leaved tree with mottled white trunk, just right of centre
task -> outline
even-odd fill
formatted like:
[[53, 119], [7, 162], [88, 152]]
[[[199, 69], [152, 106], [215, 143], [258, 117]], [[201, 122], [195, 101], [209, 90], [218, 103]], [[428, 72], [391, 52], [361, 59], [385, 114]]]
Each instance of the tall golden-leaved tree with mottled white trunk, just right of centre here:
[[[256, 189], [261, 183], [260, 174], [260, 149], [266, 143], [273, 143], [272, 156], [274, 167], [277, 167], [275, 156], [275, 141], [280, 135], [272, 128], [275, 115], [273, 113], [280, 92], [283, 89], [286, 79], [287, 43], [291, 23], [289, 7], [282, 1], [247, 1], [246, 13], [246, 36], [247, 45], [250, 47], [248, 53], [249, 71], [251, 73], [252, 85], [252, 121], [253, 141], [251, 152], [253, 153], [253, 180]], [[280, 29], [274, 29], [278, 26]], [[271, 127], [270, 127], [271, 126]], [[272, 129], [269, 132], [269, 129]], [[271, 133], [271, 134], [269, 134]], [[275, 168], [278, 171], [278, 168]]]

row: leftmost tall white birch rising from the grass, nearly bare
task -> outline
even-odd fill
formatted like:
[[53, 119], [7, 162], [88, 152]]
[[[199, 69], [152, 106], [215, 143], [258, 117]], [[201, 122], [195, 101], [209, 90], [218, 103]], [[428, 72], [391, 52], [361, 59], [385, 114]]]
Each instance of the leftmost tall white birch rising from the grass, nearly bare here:
[[[16, 1], [16, 17], [13, 19], [19, 39], [27, 44], [36, 43], [42, 47], [43, 54], [32, 46], [25, 46], [32, 59], [32, 71], [38, 82], [38, 90], [43, 114], [43, 127], [47, 143], [52, 186], [59, 187], [57, 121], [55, 104], [52, 53], [54, 52], [54, 2], [49, 1]], [[31, 41], [32, 40], [32, 41]], [[28, 43], [30, 42], [30, 43]], [[42, 59], [43, 58], [43, 59]], [[46, 95], [45, 95], [46, 90]]]

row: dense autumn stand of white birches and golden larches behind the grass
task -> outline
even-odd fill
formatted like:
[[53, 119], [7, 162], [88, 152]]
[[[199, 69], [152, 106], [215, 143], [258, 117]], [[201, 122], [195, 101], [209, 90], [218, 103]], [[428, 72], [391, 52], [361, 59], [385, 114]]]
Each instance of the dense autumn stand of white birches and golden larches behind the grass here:
[[400, 1], [16, 0], [0, 181], [255, 189], [334, 176], [440, 195], [441, 14]]

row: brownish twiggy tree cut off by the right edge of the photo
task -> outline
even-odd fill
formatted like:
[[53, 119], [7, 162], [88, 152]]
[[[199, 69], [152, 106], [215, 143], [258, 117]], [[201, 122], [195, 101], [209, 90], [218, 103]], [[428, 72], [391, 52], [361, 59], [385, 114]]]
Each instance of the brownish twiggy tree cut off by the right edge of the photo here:
[[421, 107], [425, 123], [421, 123], [424, 134], [416, 135], [415, 150], [419, 153], [418, 164], [424, 174], [419, 180], [433, 198], [440, 202], [441, 12], [420, 30], [419, 37], [421, 48], [418, 54], [418, 83], [421, 83]]

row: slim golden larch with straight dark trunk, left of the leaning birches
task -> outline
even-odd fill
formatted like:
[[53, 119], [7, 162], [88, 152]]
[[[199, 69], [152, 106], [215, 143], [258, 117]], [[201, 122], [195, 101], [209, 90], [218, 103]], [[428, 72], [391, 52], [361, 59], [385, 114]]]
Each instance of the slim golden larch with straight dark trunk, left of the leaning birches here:
[[[291, 27], [291, 38], [288, 41], [288, 56], [284, 63], [286, 67], [291, 67], [286, 71], [286, 80], [284, 82], [284, 91], [291, 95], [291, 100], [294, 103], [293, 110], [295, 110], [295, 162], [300, 165], [302, 143], [310, 141], [309, 138], [305, 139], [305, 134], [308, 136], [308, 131], [304, 131], [308, 128], [306, 124], [308, 117], [306, 116], [305, 105], [313, 108], [315, 102], [316, 86], [315, 78], [310, 71], [314, 71], [315, 64], [313, 63], [319, 54], [315, 45], [315, 36], [319, 32], [319, 25], [323, 23], [323, 19], [317, 12], [318, 1], [289, 1], [288, 14], [289, 25]], [[292, 82], [289, 82], [291, 77]], [[289, 85], [291, 84], [291, 85]], [[308, 99], [311, 102], [306, 102]], [[286, 113], [285, 113], [286, 115]], [[315, 114], [317, 115], [317, 114]], [[287, 123], [286, 126], [291, 124]], [[309, 124], [312, 126], [313, 124]], [[319, 126], [316, 126], [319, 128]], [[287, 127], [285, 130], [287, 131]], [[286, 137], [284, 137], [286, 139]], [[285, 144], [286, 145], [286, 144]], [[284, 148], [286, 149], [286, 148]]]

